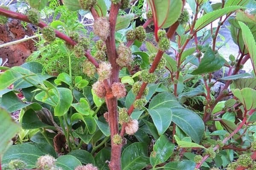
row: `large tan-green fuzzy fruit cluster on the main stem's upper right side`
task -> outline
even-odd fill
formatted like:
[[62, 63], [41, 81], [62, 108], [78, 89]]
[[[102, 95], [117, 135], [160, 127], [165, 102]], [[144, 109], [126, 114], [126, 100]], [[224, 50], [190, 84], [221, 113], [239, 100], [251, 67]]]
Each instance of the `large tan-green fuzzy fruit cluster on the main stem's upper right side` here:
[[123, 44], [120, 44], [117, 49], [117, 54], [118, 58], [116, 59], [116, 63], [120, 67], [128, 67], [131, 65], [133, 59], [130, 48], [126, 47]]

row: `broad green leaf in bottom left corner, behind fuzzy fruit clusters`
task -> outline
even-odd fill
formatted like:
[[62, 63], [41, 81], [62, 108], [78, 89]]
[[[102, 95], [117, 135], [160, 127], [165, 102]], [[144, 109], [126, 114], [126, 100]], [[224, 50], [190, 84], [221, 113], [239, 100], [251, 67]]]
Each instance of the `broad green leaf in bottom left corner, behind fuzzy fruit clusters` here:
[[35, 163], [40, 156], [44, 156], [44, 153], [32, 144], [15, 144], [9, 147], [1, 161], [7, 164], [11, 160], [20, 159], [26, 162], [26, 168], [32, 169], [35, 168]]

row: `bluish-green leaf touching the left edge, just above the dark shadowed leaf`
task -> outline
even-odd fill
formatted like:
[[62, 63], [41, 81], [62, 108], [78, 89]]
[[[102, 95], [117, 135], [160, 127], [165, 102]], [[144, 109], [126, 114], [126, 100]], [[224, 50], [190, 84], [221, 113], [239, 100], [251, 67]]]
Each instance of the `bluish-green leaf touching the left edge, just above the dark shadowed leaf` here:
[[14, 91], [10, 91], [2, 96], [2, 102], [0, 105], [5, 108], [10, 113], [18, 111], [22, 108], [32, 108], [36, 111], [39, 111], [42, 107], [38, 103], [23, 103]]

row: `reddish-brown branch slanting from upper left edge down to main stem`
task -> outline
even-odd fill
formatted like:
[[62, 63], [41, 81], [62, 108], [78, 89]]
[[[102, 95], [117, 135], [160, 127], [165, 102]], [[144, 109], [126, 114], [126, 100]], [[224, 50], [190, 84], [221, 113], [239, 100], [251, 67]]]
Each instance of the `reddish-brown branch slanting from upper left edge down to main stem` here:
[[[17, 13], [17, 12], [13, 12], [13, 11], [9, 11], [9, 10], [0, 8], [0, 14], [4, 15], [6, 17], [9, 17], [9, 18], [13, 18], [13, 19], [24, 21], [26, 23], [31, 23], [26, 15], [23, 15], [23, 14], [20, 14], [20, 13]], [[38, 26], [40, 28], [44, 28], [44, 27], [47, 27], [48, 25], [41, 21], [36, 26]], [[56, 34], [56, 37], [64, 40], [68, 44], [73, 45], [73, 46], [76, 45], [75, 41], [73, 41], [70, 37], [68, 37], [67, 35], [63, 34], [62, 32], [60, 32], [58, 30], [55, 30], [55, 34]], [[98, 62], [90, 55], [90, 52], [86, 51], [85, 57], [87, 57], [87, 59], [90, 62], [92, 62], [93, 65], [95, 65], [96, 67], [99, 67]]]

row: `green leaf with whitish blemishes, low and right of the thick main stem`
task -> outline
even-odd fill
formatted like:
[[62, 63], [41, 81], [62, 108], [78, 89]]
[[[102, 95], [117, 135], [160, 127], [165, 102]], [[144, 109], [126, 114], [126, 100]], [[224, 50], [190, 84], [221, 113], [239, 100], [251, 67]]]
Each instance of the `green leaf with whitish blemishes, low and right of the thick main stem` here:
[[150, 163], [153, 167], [161, 164], [172, 155], [175, 144], [171, 143], [169, 139], [162, 135], [157, 139], [157, 142], [154, 144], [153, 151], [150, 154]]

